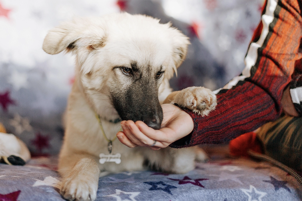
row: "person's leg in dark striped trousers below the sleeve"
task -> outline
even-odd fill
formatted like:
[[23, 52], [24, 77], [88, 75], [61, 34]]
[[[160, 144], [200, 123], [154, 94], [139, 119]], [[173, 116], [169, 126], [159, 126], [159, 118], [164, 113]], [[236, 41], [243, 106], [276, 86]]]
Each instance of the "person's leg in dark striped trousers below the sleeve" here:
[[302, 170], [302, 118], [284, 115], [257, 130], [265, 155]]

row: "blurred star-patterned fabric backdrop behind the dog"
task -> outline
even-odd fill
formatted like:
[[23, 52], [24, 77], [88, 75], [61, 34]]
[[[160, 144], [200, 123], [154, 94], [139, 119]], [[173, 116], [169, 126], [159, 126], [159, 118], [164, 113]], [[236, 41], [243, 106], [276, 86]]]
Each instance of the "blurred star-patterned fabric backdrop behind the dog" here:
[[263, 0], [0, 0], [0, 123], [32, 155], [59, 152], [74, 77], [71, 55], [42, 50], [47, 31], [73, 16], [126, 11], [172, 22], [190, 37], [174, 90], [216, 90], [244, 68]]

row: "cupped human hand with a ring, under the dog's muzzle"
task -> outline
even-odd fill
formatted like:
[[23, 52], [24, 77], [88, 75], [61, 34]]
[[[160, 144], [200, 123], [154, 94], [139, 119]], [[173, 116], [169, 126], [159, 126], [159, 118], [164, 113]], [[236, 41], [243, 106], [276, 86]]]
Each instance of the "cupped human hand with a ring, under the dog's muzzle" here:
[[[159, 130], [148, 127], [143, 121], [122, 121], [123, 131], [116, 134], [117, 138], [128, 147], [147, 146], [157, 150], [191, 133], [194, 122], [188, 113], [173, 104], [163, 104], [162, 111], [164, 116]], [[154, 140], [156, 143], [151, 146]]]

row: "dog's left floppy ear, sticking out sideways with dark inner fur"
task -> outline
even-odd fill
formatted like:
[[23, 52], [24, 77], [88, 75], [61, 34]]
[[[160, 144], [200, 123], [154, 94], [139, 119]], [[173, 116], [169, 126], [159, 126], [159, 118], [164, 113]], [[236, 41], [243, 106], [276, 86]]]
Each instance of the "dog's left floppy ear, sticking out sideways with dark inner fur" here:
[[89, 18], [74, 18], [51, 29], [43, 42], [48, 54], [58, 54], [84, 47], [91, 51], [104, 46], [105, 33], [101, 27], [92, 27]]

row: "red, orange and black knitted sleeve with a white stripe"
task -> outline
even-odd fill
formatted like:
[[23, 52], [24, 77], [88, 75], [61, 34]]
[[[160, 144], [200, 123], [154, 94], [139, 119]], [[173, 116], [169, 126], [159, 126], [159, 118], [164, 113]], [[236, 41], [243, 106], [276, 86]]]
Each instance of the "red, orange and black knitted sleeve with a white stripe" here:
[[[280, 116], [284, 88], [295, 85], [291, 87], [293, 99], [292, 89], [302, 84], [301, 65], [298, 65], [302, 58], [301, 9], [301, 0], [265, 2], [242, 74], [215, 92], [217, 107], [207, 117], [186, 110], [194, 120], [194, 129], [171, 147], [225, 143]], [[295, 107], [299, 105], [300, 102]]]

